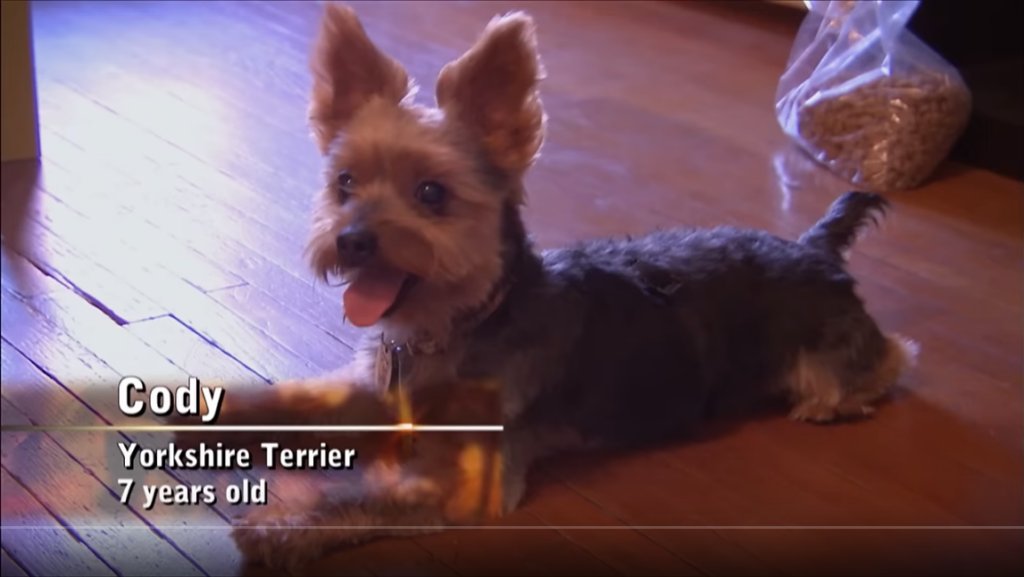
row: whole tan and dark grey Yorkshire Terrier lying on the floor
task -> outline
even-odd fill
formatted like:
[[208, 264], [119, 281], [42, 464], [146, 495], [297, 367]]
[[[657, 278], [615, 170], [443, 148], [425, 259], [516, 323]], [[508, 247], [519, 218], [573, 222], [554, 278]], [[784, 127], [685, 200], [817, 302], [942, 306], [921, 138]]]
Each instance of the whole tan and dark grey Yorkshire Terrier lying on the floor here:
[[[412, 454], [394, 435], [338, 437], [359, 451], [348, 471], [358, 490], [282, 482], [238, 522], [248, 555], [288, 568], [374, 537], [479, 524], [518, 505], [540, 458], [649, 446], [770, 396], [788, 396], [799, 420], [863, 416], [913, 360], [846, 269], [857, 233], [885, 212], [876, 195], [844, 195], [796, 242], [681, 229], [535, 251], [520, 207], [545, 113], [525, 14], [494, 19], [444, 67], [436, 108], [412, 102], [406, 70], [342, 5], [327, 6], [311, 67], [327, 172], [308, 254], [347, 284], [344, 313], [369, 329], [367, 344], [338, 374], [228, 394], [218, 423], [505, 428], [417, 434]], [[324, 438], [214, 441], [271, 440]]]

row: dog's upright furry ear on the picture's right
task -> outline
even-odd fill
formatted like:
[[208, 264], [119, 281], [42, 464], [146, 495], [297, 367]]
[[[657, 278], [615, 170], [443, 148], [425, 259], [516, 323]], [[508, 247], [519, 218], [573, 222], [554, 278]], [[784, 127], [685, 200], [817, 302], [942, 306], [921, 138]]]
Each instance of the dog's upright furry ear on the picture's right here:
[[496, 17], [476, 44], [437, 78], [437, 106], [475, 132], [490, 161], [521, 175], [544, 141], [538, 91], [544, 67], [532, 18]]

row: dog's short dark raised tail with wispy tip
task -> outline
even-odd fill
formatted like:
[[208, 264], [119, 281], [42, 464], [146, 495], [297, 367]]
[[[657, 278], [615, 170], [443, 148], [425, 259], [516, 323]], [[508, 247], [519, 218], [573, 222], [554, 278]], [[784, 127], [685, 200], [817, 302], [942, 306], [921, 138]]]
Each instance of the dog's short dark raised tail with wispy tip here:
[[818, 220], [798, 241], [805, 246], [827, 252], [845, 259], [853, 248], [857, 236], [868, 224], [879, 224], [890, 204], [873, 193], [846, 193], [828, 208], [828, 213]]

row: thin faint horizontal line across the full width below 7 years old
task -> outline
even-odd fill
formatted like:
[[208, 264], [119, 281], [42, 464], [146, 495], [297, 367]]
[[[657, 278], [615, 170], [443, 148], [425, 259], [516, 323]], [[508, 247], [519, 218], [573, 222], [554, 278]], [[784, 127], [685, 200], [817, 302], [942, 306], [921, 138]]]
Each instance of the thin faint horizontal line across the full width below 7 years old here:
[[[42, 530], [42, 529], [57, 529], [57, 527], [51, 525], [44, 526], [31, 526], [31, 525], [2, 525], [0, 529], [31, 529], [31, 530]], [[522, 531], [527, 529], [546, 529], [555, 531], [584, 531], [584, 530], [618, 530], [618, 531], [662, 531], [662, 530], [672, 530], [672, 531], [1022, 531], [1024, 526], [742, 526], [742, 525], [613, 525], [613, 526], [594, 526], [594, 525], [525, 525], [525, 526], [498, 526], [498, 525], [481, 525], [481, 526], [465, 526], [465, 525], [454, 525], [451, 527], [437, 527], [437, 526], [419, 526], [419, 525], [401, 525], [401, 526], [362, 526], [362, 525], [334, 525], [334, 526], [313, 526], [305, 527], [301, 525], [287, 526], [287, 527], [232, 527], [227, 525], [137, 525], [137, 526], [123, 526], [123, 525], [90, 525], [90, 526], [78, 526], [71, 525], [67, 527], [61, 527], [61, 529], [79, 529], [79, 530], [106, 530], [106, 529], [135, 529], [135, 530], [181, 530], [181, 529], [203, 529], [203, 530], [214, 530], [214, 529], [260, 529], [260, 530], [290, 530], [290, 529], [367, 529], [374, 531], [410, 531], [410, 530], [516, 530]]]

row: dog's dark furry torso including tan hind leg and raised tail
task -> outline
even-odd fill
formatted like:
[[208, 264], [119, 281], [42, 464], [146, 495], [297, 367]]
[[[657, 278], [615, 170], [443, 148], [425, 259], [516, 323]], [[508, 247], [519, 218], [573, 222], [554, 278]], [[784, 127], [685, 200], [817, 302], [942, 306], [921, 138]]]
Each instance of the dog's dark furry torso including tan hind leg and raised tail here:
[[514, 364], [520, 423], [601, 446], [670, 438], [772, 393], [794, 397], [798, 419], [864, 414], [911, 353], [879, 330], [843, 259], [886, 206], [849, 193], [796, 242], [718, 228], [549, 251], [475, 348]]

